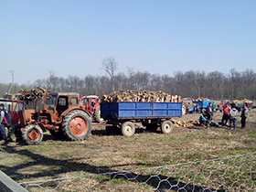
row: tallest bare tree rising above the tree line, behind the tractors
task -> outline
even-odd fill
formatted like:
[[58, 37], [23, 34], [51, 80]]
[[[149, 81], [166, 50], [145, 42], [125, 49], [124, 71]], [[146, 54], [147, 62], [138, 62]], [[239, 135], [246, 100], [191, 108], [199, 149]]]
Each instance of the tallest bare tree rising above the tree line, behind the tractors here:
[[113, 58], [104, 58], [102, 60], [101, 70], [104, 70], [111, 79], [112, 91], [114, 91], [114, 77], [117, 70], [118, 62]]

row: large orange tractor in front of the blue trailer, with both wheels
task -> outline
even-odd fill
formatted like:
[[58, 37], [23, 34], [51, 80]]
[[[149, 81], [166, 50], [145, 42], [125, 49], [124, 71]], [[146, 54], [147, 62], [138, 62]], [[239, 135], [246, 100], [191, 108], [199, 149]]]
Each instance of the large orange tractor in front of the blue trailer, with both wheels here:
[[91, 133], [91, 118], [80, 108], [79, 93], [52, 93], [20, 111], [22, 139], [39, 144], [47, 130], [58, 139], [84, 140]]

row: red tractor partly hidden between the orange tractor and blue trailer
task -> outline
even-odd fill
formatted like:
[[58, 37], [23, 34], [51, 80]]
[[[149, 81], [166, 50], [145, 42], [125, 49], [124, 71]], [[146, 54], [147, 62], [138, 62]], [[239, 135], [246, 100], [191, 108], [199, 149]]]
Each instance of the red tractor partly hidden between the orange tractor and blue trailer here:
[[96, 95], [89, 95], [82, 97], [82, 109], [91, 114], [92, 122], [102, 123], [100, 100]]

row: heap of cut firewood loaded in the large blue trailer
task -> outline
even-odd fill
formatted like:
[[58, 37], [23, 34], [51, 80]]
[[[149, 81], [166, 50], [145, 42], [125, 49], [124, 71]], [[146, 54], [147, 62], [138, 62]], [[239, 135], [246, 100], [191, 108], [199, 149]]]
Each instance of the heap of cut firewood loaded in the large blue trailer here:
[[154, 101], [154, 102], [180, 102], [181, 96], [170, 95], [163, 91], [115, 91], [110, 95], [103, 95], [101, 102], [119, 101]]

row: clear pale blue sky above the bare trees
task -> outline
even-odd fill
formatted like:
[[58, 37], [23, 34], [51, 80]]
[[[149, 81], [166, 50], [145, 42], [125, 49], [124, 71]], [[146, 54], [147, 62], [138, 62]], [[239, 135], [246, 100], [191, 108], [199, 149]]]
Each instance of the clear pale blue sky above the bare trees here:
[[256, 69], [256, 1], [0, 0], [0, 82]]

